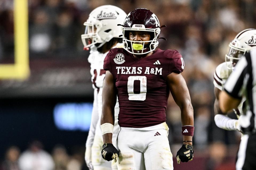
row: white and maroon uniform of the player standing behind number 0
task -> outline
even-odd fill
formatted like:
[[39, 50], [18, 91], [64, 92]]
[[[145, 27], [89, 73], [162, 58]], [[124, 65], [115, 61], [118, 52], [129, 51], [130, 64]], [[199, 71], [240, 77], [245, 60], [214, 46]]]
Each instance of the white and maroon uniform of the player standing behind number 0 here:
[[[122, 48], [123, 44], [118, 43], [113, 48]], [[117, 165], [112, 160], [112, 165], [110, 162], [104, 161], [101, 156], [101, 150], [103, 145], [102, 132], [101, 132], [101, 112], [102, 112], [102, 86], [103, 80], [105, 78], [106, 71], [103, 69], [103, 62], [108, 52], [99, 53], [95, 47], [91, 47], [90, 56], [88, 58], [89, 63], [91, 64], [91, 81], [94, 88], [94, 103], [93, 103], [93, 112], [91, 119], [91, 126], [89, 134], [86, 141], [86, 147], [91, 147], [91, 158], [92, 164], [95, 169], [102, 167], [103, 169], [117, 169]], [[95, 108], [96, 107], [96, 108]], [[115, 146], [115, 141], [117, 139], [117, 134], [119, 131], [118, 125], [118, 113], [119, 113], [119, 103], [115, 105], [115, 124], [113, 129], [112, 143]]]

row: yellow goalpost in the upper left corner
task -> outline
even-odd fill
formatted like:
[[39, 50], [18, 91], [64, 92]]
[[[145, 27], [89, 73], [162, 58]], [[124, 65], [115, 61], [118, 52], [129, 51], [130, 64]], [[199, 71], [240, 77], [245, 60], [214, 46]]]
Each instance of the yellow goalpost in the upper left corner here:
[[14, 64], [0, 64], [0, 79], [26, 79], [29, 75], [28, 1], [14, 0]]

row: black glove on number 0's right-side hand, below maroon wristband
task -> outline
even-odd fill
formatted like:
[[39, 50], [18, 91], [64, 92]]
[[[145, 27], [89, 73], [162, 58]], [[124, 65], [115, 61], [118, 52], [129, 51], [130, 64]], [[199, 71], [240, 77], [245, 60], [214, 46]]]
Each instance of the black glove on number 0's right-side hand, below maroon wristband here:
[[182, 145], [182, 147], [178, 150], [176, 158], [177, 158], [177, 163], [179, 164], [180, 162], [188, 162], [191, 161], [193, 158], [193, 146], [191, 145]]

